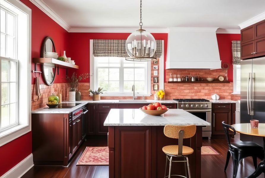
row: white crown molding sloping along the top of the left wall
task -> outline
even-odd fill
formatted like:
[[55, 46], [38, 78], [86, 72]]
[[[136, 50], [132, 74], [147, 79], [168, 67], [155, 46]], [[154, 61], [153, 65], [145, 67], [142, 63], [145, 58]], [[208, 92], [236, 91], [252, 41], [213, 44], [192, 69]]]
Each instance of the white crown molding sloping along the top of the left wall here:
[[51, 19], [53, 19], [56, 23], [58, 23], [61, 27], [63, 27], [66, 31], [69, 31], [71, 28], [59, 15], [57, 15], [45, 2], [42, 0], [29, 0], [35, 6], [42, 10], [46, 15], [48, 15]]

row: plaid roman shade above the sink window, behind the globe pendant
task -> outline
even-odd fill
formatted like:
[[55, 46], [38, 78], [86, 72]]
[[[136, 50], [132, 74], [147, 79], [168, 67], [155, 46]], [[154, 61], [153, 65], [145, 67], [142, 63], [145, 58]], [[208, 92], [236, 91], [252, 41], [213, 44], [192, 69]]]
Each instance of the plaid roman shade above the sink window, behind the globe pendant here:
[[[162, 40], [156, 41], [156, 57], [162, 54]], [[93, 55], [95, 57], [125, 57], [126, 40], [124, 39], [94, 39]], [[128, 56], [128, 55], [127, 55]]]

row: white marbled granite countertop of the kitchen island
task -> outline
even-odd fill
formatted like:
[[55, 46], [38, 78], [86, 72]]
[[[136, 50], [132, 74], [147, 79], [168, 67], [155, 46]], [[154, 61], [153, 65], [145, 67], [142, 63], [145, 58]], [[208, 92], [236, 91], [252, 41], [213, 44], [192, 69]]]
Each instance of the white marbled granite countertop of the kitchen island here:
[[105, 126], [211, 125], [183, 109], [169, 109], [160, 116], [147, 115], [140, 109], [110, 109]]

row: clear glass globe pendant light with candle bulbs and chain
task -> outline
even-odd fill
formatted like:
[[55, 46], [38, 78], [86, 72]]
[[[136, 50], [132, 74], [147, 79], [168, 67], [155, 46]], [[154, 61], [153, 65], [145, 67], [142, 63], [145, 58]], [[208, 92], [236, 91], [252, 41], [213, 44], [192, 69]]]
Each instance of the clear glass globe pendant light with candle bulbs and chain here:
[[140, 29], [130, 34], [126, 40], [125, 49], [127, 61], [155, 61], [156, 42], [153, 35], [142, 29], [142, 0], [140, 4]]

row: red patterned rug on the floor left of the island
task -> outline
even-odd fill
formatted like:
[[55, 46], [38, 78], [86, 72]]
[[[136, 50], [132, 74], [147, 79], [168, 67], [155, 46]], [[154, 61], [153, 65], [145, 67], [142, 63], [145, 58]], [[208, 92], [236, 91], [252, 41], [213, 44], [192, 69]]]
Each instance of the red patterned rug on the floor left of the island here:
[[109, 147], [86, 147], [77, 166], [108, 166]]

